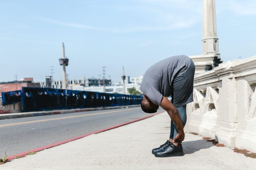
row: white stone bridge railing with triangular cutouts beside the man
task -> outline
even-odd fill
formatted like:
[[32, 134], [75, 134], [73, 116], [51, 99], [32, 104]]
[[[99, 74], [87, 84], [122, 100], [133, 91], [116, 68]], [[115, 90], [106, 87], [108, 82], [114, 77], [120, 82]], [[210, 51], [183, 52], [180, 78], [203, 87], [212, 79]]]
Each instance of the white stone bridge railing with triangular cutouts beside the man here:
[[221, 63], [194, 78], [186, 129], [256, 152], [256, 56]]

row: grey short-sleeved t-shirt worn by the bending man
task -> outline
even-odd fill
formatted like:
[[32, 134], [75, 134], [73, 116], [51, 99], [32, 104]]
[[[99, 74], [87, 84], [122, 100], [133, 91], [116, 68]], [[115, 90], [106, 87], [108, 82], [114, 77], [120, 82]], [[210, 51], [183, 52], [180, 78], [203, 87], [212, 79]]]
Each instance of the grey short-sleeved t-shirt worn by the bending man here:
[[154, 104], [160, 106], [163, 96], [172, 95], [173, 79], [186, 72], [191, 59], [186, 55], [176, 55], [152, 65], [145, 72], [140, 90]]

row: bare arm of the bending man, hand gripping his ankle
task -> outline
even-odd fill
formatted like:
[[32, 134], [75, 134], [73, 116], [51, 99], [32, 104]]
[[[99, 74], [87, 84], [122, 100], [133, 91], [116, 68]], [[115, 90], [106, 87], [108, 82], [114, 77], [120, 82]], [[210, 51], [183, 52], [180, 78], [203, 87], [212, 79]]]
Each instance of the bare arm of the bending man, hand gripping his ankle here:
[[183, 130], [183, 124], [182, 124], [182, 120], [181, 120], [178, 109], [172, 104], [170, 100], [168, 100], [164, 96], [161, 101], [161, 107], [167, 111], [168, 115], [170, 116], [170, 118], [172, 119], [173, 123], [176, 125], [176, 128], [178, 130], [178, 134], [173, 139], [174, 142], [176, 142], [176, 140], [179, 140], [180, 142], [182, 142], [184, 140], [185, 133]]

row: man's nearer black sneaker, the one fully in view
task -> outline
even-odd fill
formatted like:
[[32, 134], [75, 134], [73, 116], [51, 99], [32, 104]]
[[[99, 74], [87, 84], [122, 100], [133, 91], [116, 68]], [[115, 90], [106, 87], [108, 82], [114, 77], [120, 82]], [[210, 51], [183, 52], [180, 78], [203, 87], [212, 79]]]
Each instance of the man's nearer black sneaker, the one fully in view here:
[[183, 148], [180, 144], [179, 146], [175, 146], [172, 142], [169, 143], [164, 149], [157, 151], [155, 153], [156, 157], [171, 157], [171, 156], [183, 156]]

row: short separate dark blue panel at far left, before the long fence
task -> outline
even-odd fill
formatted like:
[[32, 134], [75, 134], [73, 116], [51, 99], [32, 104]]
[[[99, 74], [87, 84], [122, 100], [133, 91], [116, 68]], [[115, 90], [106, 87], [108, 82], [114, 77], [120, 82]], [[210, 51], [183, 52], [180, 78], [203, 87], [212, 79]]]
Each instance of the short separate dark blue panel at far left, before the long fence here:
[[2, 92], [3, 105], [21, 102], [21, 90]]

